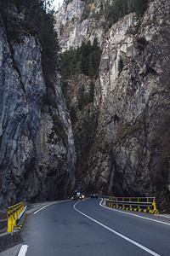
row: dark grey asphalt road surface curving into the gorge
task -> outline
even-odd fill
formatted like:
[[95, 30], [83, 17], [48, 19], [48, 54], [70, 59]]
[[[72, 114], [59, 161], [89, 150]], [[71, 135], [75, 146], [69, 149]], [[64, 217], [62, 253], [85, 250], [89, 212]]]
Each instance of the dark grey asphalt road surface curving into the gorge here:
[[169, 218], [108, 209], [100, 201], [63, 201], [28, 214], [19, 255], [170, 255]]

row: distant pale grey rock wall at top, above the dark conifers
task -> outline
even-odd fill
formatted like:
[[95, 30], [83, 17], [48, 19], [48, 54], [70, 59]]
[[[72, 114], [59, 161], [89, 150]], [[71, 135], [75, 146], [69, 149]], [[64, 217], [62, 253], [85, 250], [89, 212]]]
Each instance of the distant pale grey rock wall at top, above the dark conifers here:
[[[93, 12], [99, 11], [99, 1], [94, 1], [94, 9], [92, 3], [85, 3], [81, 0], [64, 2], [59, 11], [55, 15], [55, 29], [58, 32], [59, 45], [61, 52], [71, 47], [77, 48], [82, 41], [91, 42], [97, 37], [99, 44], [102, 44], [104, 37], [104, 28], [101, 26], [103, 19], [96, 21]], [[88, 17], [84, 15], [89, 10]]]

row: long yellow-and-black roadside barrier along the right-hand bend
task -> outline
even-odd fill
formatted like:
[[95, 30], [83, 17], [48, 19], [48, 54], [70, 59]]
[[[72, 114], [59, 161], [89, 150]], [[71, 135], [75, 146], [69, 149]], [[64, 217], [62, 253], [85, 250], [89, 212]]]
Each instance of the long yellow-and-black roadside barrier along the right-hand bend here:
[[150, 212], [158, 214], [155, 197], [114, 197], [104, 196], [105, 206], [134, 212]]

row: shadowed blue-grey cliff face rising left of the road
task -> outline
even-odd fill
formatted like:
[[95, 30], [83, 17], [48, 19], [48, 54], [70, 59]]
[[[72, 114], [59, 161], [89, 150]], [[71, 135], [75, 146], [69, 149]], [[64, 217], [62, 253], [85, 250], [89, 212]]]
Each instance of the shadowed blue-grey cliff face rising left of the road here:
[[0, 206], [65, 198], [74, 186], [76, 157], [60, 74], [46, 84], [39, 39], [26, 32], [22, 43], [9, 42], [3, 16], [0, 13]]

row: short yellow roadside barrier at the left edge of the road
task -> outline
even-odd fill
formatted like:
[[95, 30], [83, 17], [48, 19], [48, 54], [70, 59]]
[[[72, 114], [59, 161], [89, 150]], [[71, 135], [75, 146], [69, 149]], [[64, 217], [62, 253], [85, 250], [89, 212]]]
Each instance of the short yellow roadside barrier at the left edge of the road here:
[[18, 228], [18, 230], [20, 230], [25, 218], [26, 218], [26, 207], [24, 206], [23, 201], [21, 201], [20, 203], [12, 207], [8, 207], [7, 232], [14, 231], [16, 227]]

